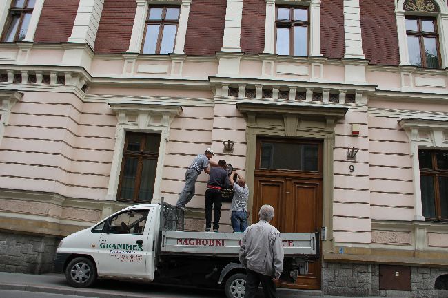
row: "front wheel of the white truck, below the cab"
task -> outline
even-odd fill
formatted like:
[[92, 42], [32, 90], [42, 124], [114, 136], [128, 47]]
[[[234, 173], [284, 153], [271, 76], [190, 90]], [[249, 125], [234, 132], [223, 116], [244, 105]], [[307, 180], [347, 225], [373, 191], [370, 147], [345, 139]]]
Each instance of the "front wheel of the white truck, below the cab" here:
[[87, 257], [72, 259], [65, 268], [65, 279], [70, 286], [76, 288], [88, 288], [96, 280], [96, 268]]

